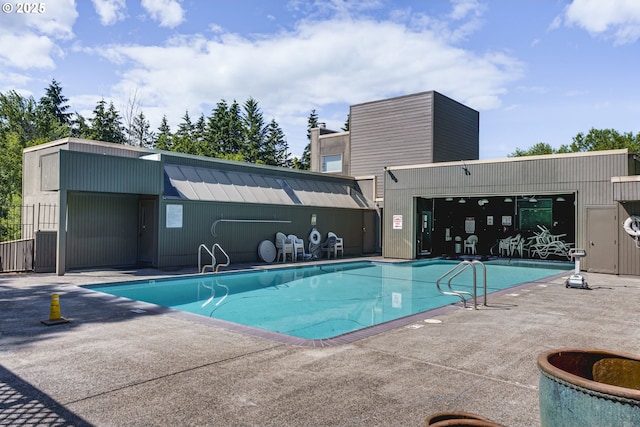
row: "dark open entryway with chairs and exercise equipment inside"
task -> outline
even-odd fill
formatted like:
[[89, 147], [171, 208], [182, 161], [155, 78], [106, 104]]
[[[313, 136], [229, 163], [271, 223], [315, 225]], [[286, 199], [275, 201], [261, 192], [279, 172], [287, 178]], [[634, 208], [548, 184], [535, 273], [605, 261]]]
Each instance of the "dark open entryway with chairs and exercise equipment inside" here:
[[575, 193], [419, 197], [416, 254], [567, 260], [575, 200]]

